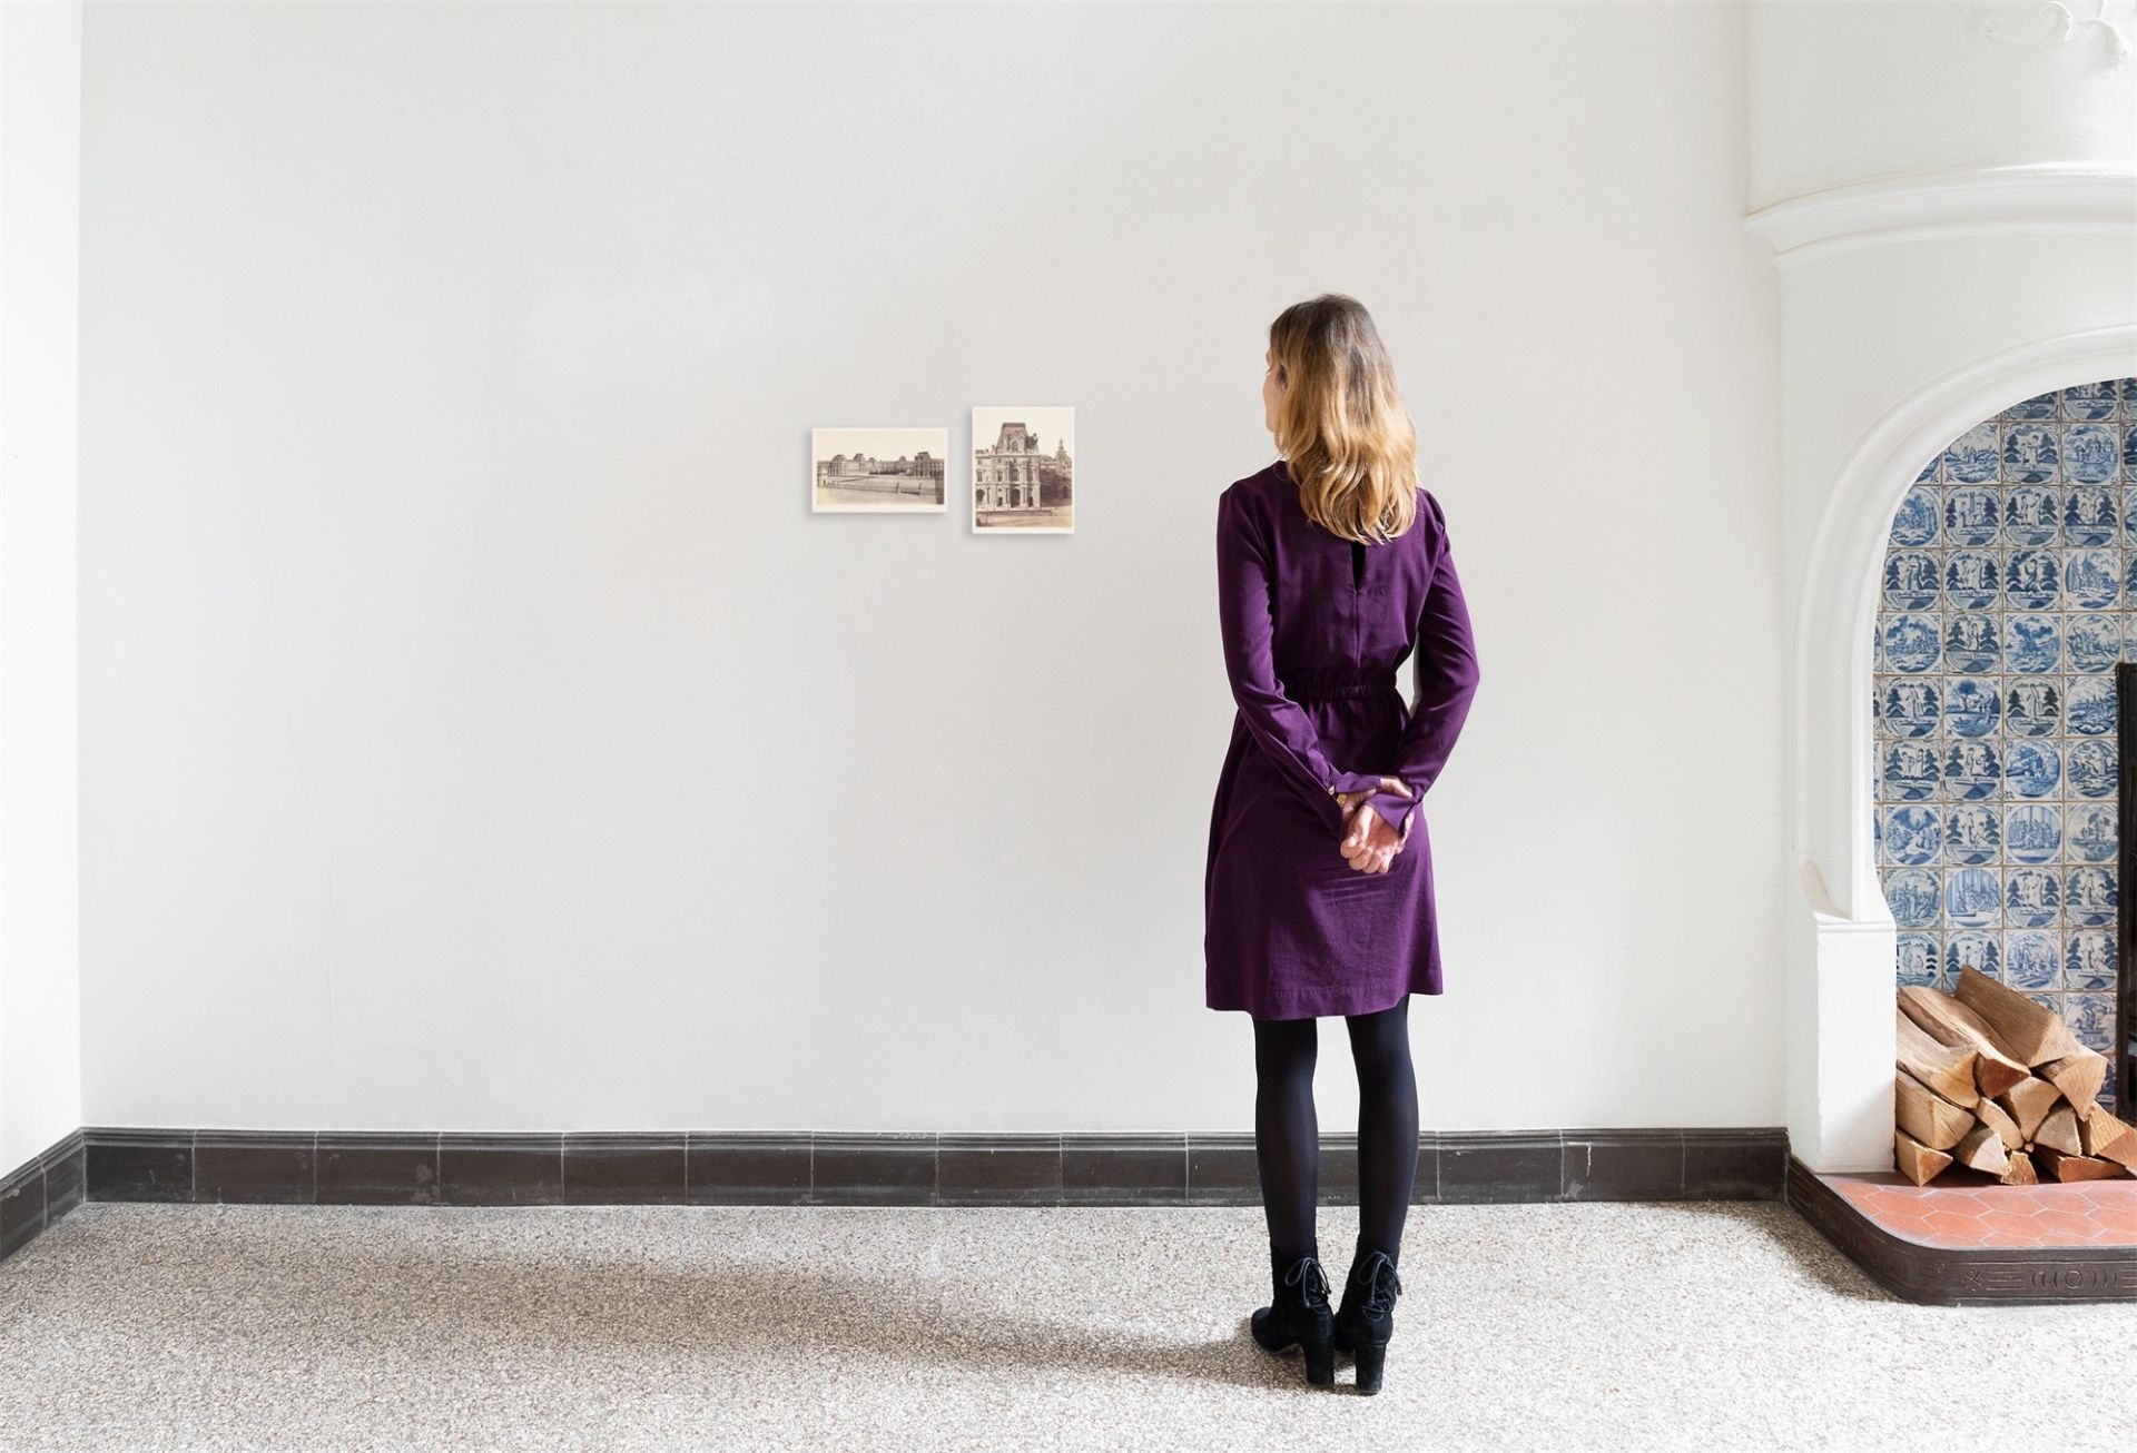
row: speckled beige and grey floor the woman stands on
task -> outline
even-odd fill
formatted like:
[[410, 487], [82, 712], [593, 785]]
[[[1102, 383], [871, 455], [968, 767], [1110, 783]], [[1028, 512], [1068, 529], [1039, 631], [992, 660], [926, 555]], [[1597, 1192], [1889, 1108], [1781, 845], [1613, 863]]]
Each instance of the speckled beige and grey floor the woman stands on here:
[[[1321, 1212], [1336, 1278], [1355, 1216]], [[1259, 1207], [88, 1203], [0, 1263], [0, 1449], [2011, 1453], [2137, 1417], [2137, 1306], [1913, 1306], [1769, 1201], [1419, 1205], [1402, 1267], [1361, 1397], [1248, 1340]], [[1975, 1395], [1998, 1368], [2069, 1395]]]

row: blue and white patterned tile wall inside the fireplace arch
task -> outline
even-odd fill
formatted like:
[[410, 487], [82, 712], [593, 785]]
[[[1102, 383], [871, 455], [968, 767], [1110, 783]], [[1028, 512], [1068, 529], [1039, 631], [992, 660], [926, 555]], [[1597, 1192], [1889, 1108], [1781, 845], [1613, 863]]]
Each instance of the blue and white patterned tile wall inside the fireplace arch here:
[[2137, 378], [2030, 397], [1923, 466], [1891, 524], [1874, 660], [1898, 983], [1949, 989], [1972, 964], [2113, 1053]]

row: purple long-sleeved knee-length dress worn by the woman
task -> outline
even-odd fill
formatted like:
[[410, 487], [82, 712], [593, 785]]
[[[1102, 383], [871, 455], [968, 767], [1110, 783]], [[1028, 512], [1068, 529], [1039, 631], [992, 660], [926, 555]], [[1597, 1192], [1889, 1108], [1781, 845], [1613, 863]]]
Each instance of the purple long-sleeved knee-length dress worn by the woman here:
[[[1357, 545], [1306, 517], [1282, 459], [1218, 496], [1218, 620], [1239, 714], [1210, 814], [1203, 959], [1210, 1009], [1306, 1019], [1440, 994], [1423, 799], [1477, 692], [1477, 650], [1447, 545], [1419, 489], [1417, 524]], [[1413, 650], [1415, 643], [1415, 650]], [[1404, 703], [1398, 667], [1413, 665]], [[1336, 793], [1370, 799], [1410, 838], [1385, 874], [1344, 861]]]

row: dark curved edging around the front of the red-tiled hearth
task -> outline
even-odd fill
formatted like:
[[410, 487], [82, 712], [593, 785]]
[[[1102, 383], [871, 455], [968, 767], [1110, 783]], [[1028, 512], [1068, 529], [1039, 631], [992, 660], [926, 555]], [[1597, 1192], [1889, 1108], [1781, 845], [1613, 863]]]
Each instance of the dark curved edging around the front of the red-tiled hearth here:
[[1789, 1205], [1870, 1280], [1930, 1306], [2137, 1301], [2137, 1248], [1923, 1246], [1893, 1235], [1789, 1156]]

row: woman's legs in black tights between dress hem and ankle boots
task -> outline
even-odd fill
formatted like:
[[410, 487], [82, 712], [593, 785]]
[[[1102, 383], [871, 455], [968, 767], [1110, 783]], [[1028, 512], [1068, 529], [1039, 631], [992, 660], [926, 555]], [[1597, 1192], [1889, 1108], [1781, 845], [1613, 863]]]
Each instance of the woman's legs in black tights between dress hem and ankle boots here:
[[[1391, 1256], [1417, 1179], [1417, 1073], [1410, 996], [1372, 1015], [1344, 1015], [1357, 1062], [1357, 1239]], [[1321, 1182], [1314, 1118], [1319, 1019], [1254, 1019], [1254, 1158], [1269, 1246], [1308, 1252]]]

